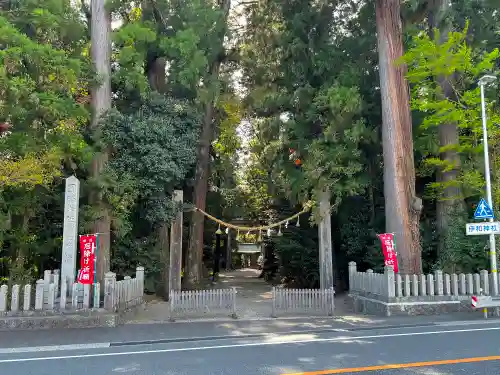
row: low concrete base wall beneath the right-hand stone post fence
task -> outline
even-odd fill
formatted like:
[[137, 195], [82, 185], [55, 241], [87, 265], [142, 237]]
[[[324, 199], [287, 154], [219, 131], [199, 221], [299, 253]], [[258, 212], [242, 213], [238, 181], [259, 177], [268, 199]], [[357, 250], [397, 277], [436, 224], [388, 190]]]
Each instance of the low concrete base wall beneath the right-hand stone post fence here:
[[471, 299], [465, 296], [416, 296], [381, 298], [380, 296], [351, 293], [354, 311], [369, 315], [439, 315], [474, 311]]

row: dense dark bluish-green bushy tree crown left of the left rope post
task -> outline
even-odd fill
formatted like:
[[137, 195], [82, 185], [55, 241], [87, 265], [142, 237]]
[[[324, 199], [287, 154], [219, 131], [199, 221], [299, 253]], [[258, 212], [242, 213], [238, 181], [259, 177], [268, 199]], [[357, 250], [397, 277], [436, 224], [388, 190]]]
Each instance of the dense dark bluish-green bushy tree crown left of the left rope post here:
[[[196, 157], [200, 116], [188, 102], [153, 95], [132, 114], [111, 112], [103, 138], [111, 147], [108, 168], [114, 176], [130, 176], [145, 202], [151, 222], [171, 217], [170, 194]], [[119, 182], [119, 181], [117, 181]]]

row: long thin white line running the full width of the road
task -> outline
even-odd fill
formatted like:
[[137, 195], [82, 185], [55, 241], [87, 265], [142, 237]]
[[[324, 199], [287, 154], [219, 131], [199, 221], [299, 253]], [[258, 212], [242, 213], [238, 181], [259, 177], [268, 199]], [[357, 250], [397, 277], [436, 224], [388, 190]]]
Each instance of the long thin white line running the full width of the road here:
[[246, 347], [255, 347], [255, 346], [270, 346], [270, 345], [290, 345], [290, 344], [323, 343], [323, 342], [328, 343], [328, 342], [336, 342], [336, 341], [352, 342], [352, 341], [356, 341], [356, 340], [379, 339], [379, 338], [387, 338], [387, 337], [442, 335], [445, 333], [464, 333], [464, 332], [497, 331], [497, 330], [500, 330], [500, 327], [459, 329], [459, 330], [450, 330], [450, 331], [405, 332], [405, 333], [393, 333], [393, 334], [385, 334], [385, 335], [334, 337], [334, 338], [329, 338], [329, 339], [307, 339], [307, 340], [295, 340], [295, 341], [254, 342], [254, 343], [244, 343], [244, 344], [199, 346], [199, 347], [194, 347], [194, 348], [153, 349], [153, 350], [138, 350], [138, 351], [129, 351], [129, 352], [61, 355], [61, 356], [54, 356], [54, 357], [0, 359], [0, 363], [34, 362], [34, 361], [98, 358], [98, 357], [118, 357], [118, 356], [137, 355], [137, 354], [189, 352], [189, 351], [198, 351], [198, 350], [246, 348]]

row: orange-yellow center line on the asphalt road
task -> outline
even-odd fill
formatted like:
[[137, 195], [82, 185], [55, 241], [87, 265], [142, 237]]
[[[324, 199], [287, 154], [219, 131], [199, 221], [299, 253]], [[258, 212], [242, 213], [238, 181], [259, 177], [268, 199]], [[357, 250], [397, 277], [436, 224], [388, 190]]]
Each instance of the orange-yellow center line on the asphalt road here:
[[489, 356], [489, 357], [446, 359], [446, 360], [442, 360], [442, 361], [395, 363], [395, 364], [390, 364], [390, 365], [339, 368], [339, 369], [319, 370], [319, 371], [306, 371], [306, 372], [296, 372], [296, 373], [281, 374], [281, 375], [333, 375], [333, 374], [347, 374], [350, 372], [393, 370], [393, 369], [405, 369], [405, 368], [411, 368], [411, 367], [454, 365], [454, 364], [458, 364], [458, 363], [474, 363], [474, 362], [485, 362], [485, 361], [500, 361], [500, 355], [494, 355], [494, 356]]

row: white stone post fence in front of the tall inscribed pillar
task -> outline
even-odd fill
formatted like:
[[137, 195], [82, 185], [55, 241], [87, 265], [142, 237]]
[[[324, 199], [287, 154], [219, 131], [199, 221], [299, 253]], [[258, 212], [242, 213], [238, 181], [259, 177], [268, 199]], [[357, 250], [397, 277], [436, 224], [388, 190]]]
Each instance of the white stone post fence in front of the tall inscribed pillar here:
[[[36, 313], [68, 313], [76, 310], [100, 309], [123, 311], [141, 304], [144, 294], [144, 267], [137, 267], [136, 276], [116, 281], [116, 274], [105, 275], [104, 304], [101, 304], [100, 284], [74, 283], [68, 291], [61, 283], [58, 270], [45, 271], [35, 285], [0, 286], [0, 315], [32, 315]], [[69, 293], [71, 292], [71, 293]]]

